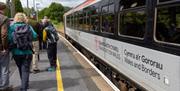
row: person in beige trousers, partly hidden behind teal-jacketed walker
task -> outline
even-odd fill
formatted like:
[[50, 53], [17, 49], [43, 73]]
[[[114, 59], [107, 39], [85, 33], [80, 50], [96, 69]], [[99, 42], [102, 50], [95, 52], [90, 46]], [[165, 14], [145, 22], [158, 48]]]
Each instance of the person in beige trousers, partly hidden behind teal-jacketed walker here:
[[38, 61], [39, 61], [39, 35], [40, 35], [40, 29], [39, 29], [39, 24], [38, 22], [35, 20], [35, 16], [31, 15], [30, 19], [28, 19], [28, 24], [31, 25], [33, 27], [33, 29], [35, 30], [35, 32], [38, 34], [37, 39], [35, 39], [35, 41], [33, 41], [33, 59], [32, 59], [32, 68], [31, 68], [31, 72], [33, 73], [38, 73], [40, 70], [38, 68]]

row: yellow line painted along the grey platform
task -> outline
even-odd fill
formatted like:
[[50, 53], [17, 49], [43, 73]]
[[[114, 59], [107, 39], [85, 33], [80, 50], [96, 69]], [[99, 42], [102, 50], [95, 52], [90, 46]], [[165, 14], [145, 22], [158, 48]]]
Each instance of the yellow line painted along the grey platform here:
[[56, 79], [57, 79], [57, 91], [64, 91], [62, 76], [61, 76], [61, 69], [60, 69], [60, 61], [57, 58], [56, 60], [57, 68], [56, 68]]

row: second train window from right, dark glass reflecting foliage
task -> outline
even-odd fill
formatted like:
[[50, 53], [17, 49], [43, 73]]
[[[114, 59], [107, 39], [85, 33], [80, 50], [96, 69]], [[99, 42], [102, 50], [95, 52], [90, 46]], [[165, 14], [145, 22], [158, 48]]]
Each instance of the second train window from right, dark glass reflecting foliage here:
[[119, 33], [121, 35], [143, 38], [146, 18], [144, 10], [121, 13]]

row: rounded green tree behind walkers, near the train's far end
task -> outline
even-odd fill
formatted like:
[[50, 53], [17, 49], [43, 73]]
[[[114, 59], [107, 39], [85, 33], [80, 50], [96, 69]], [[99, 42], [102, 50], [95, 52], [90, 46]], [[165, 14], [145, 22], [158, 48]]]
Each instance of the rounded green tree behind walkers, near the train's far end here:
[[[69, 8], [66, 8], [66, 10]], [[65, 12], [65, 8], [59, 3], [52, 3], [48, 8], [44, 8], [39, 12], [39, 18], [43, 18], [44, 16], [48, 16], [51, 20], [55, 21], [63, 21], [63, 14]]]

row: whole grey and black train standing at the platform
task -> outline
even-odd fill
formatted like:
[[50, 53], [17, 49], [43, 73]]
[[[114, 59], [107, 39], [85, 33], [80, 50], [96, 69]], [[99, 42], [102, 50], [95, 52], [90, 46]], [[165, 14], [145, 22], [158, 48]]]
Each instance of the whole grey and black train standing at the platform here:
[[87, 0], [64, 30], [121, 91], [180, 91], [180, 0]]

